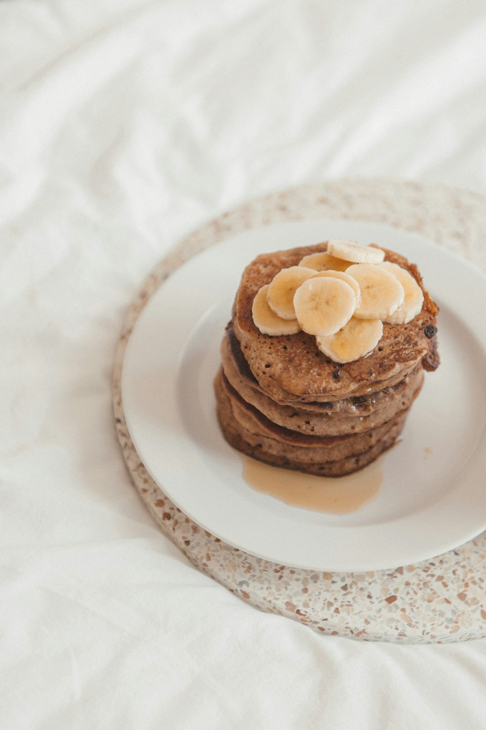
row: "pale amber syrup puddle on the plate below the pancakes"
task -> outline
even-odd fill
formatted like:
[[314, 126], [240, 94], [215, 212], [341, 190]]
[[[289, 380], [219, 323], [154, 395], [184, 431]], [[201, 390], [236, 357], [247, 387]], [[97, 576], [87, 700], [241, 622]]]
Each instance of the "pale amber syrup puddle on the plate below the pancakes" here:
[[383, 468], [380, 459], [345, 477], [316, 477], [280, 469], [250, 456], [243, 458], [243, 479], [256, 491], [270, 494], [292, 507], [330, 515], [357, 512], [380, 492]]

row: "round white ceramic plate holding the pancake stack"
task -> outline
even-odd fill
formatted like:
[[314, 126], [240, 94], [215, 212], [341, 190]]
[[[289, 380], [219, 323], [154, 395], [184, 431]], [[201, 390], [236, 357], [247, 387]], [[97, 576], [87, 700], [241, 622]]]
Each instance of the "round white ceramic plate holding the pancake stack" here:
[[[426, 373], [385, 482], [350, 515], [255, 491], [216, 422], [213, 377], [244, 266], [259, 253], [350, 238], [418, 264], [441, 308], [442, 364]], [[361, 572], [415, 563], [486, 528], [486, 278], [431, 242], [356, 221], [281, 223], [226, 239], [163, 283], [133, 328], [122, 399], [133, 444], [162, 491], [224, 542], [288, 566]]]

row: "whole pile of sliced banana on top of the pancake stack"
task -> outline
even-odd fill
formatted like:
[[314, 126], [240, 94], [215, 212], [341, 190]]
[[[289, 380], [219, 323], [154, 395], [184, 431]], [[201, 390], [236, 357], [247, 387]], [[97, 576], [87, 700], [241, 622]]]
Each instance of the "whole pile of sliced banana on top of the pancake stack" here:
[[383, 261], [375, 246], [332, 239], [256, 294], [252, 314], [262, 334], [315, 335], [337, 363], [363, 358], [383, 336], [383, 322], [406, 324], [423, 307], [423, 291], [407, 269]]

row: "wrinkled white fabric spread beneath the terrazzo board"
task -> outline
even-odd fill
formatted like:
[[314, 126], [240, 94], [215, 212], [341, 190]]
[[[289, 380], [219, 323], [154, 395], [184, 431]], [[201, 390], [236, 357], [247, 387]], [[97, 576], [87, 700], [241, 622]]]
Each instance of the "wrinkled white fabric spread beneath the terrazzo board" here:
[[479, 729], [486, 642], [262, 614], [144, 509], [111, 414], [128, 304], [181, 237], [333, 177], [486, 193], [486, 9], [0, 4], [0, 727]]

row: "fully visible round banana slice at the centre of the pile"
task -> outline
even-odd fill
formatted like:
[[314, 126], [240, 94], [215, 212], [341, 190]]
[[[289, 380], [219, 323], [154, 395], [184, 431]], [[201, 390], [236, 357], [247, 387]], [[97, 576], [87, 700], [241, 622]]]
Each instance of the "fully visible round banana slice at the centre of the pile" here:
[[294, 296], [297, 321], [307, 334], [327, 336], [345, 326], [356, 309], [349, 284], [333, 277], [307, 279]]

